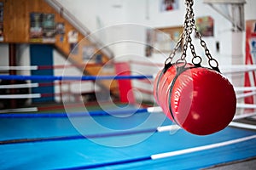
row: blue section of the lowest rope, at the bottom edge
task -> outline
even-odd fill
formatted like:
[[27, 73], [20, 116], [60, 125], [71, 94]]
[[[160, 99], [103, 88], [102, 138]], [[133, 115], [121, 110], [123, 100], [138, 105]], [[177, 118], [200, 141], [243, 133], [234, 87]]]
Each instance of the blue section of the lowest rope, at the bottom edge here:
[[125, 164], [125, 163], [132, 163], [132, 162], [137, 162], [137, 161], [149, 161], [149, 160], [152, 160], [151, 156], [139, 157], [139, 158], [134, 158], [134, 159], [122, 160], [122, 161], [110, 161], [110, 162], [106, 162], [106, 163], [85, 165], [85, 166], [80, 166], [80, 167], [60, 168], [58, 170], [91, 169], [91, 168], [96, 168], [96, 167], [107, 167], [107, 166], [112, 166], [112, 165], [121, 165], [121, 164]]

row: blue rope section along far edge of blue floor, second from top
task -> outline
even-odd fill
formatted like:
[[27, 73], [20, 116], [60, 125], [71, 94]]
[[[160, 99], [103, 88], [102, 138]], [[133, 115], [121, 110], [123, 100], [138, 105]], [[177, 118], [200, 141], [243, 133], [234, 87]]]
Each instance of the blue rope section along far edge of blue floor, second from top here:
[[1, 113], [1, 118], [44, 118], [44, 117], [75, 117], [75, 116], [110, 116], [110, 115], [127, 115], [131, 113], [148, 112], [147, 109], [133, 109], [120, 111], [88, 111], [73, 113]]

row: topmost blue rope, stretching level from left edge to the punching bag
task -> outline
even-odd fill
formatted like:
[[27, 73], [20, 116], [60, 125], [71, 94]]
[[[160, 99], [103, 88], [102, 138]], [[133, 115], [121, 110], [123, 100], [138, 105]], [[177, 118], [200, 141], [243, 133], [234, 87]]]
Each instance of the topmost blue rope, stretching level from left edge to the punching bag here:
[[61, 77], [61, 76], [20, 76], [20, 75], [0, 75], [2, 80], [124, 80], [124, 79], [152, 79], [153, 76], [84, 76], [84, 77]]

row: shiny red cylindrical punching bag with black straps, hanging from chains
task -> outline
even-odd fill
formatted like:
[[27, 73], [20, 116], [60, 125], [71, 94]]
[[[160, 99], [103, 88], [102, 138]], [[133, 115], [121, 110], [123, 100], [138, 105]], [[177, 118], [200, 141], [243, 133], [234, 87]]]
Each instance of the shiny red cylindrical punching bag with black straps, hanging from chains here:
[[192, 64], [173, 64], [160, 71], [154, 98], [166, 116], [197, 135], [224, 129], [236, 113], [236, 94], [228, 79]]

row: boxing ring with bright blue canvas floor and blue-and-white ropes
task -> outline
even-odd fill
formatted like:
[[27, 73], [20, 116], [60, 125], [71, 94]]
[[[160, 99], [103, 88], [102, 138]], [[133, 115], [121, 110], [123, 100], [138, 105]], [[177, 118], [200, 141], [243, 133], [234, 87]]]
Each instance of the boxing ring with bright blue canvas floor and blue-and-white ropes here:
[[[255, 71], [253, 67], [244, 69]], [[238, 70], [241, 72], [241, 68]], [[226, 71], [226, 74], [230, 72]], [[138, 84], [149, 85], [153, 78], [149, 75], [44, 77], [50, 81], [131, 79]], [[2, 75], [0, 79], [32, 80], [42, 77]], [[13, 86], [20, 88], [21, 85]], [[32, 88], [38, 85], [28, 83], [25, 86]], [[137, 92], [152, 95], [150, 90], [136, 89]], [[248, 92], [243, 93], [245, 90]], [[255, 95], [253, 90], [253, 87], [236, 87], [237, 100]], [[30, 97], [41, 98], [44, 95], [30, 94]], [[11, 96], [4, 95], [1, 98], [9, 99]], [[255, 116], [253, 111], [236, 114], [230, 126], [218, 133], [198, 136], [184, 131], [167, 119], [157, 105], [145, 107], [106, 103], [106, 107], [90, 105], [91, 109], [86, 106], [86, 110], [84, 105], [73, 104], [68, 109], [59, 106], [54, 109], [55, 105], [51, 105], [48, 110], [39, 107], [2, 110], [0, 168], [200, 169], [245, 161], [256, 156], [256, 126], [239, 122]], [[237, 108], [251, 111], [255, 105], [238, 102]]]

